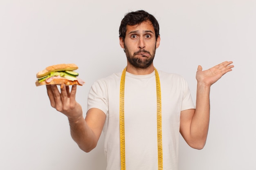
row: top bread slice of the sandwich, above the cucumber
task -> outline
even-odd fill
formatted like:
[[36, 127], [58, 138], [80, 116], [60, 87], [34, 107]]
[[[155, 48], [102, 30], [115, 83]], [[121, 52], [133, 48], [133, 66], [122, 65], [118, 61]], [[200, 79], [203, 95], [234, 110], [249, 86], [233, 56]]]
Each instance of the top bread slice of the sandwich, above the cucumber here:
[[51, 72], [56, 72], [56, 71], [74, 71], [78, 69], [78, 66], [76, 64], [57, 64], [53, 66], [46, 67], [43, 71], [39, 71], [36, 74], [37, 78], [44, 77], [48, 75]]

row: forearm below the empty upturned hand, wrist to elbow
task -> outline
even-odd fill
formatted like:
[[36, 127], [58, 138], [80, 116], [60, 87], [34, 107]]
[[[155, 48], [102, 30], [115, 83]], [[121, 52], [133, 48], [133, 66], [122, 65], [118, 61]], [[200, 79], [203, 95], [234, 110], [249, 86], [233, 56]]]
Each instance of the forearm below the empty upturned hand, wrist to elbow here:
[[202, 83], [198, 83], [197, 86], [197, 97], [196, 97], [196, 108], [191, 121], [190, 135], [192, 141], [197, 144], [204, 146], [208, 129], [209, 129], [209, 118], [210, 118], [210, 86]]

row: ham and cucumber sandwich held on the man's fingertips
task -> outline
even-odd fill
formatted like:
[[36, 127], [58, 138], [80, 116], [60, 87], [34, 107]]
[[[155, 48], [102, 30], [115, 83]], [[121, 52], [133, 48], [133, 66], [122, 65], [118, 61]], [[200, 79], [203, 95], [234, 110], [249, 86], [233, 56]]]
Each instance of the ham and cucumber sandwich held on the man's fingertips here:
[[57, 64], [45, 68], [36, 74], [36, 86], [48, 85], [48, 84], [65, 84], [80, 85], [83, 86], [85, 82], [78, 77], [78, 73], [74, 70], [78, 69], [76, 64]]

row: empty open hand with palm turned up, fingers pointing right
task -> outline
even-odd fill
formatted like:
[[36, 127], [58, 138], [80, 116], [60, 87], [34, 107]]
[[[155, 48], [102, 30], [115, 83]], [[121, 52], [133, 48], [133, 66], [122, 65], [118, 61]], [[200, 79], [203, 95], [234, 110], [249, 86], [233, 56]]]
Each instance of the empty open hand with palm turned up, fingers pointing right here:
[[226, 74], [229, 71], [232, 71], [231, 68], [234, 67], [234, 65], [230, 65], [233, 62], [222, 62], [212, 68], [209, 68], [208, 70], [202, 71], [202, 66], [198, 66], [198, 70], [196, 72], [196, 79], [198, 83], [203, 83], [206, 86], [211, 86], [215, 82], [218, 81], [224, 74]]

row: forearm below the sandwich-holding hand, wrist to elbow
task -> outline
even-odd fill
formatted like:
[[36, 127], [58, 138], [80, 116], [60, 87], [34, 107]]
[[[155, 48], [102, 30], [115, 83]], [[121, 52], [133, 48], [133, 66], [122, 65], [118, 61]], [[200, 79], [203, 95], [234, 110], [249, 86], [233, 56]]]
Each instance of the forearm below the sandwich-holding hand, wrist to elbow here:
[[72, 139], [78, 144], [81, 150], [90, 152], [96, 147], [97, 139], [83, 116], [76, 120], [69, 119], [69, 124]]

